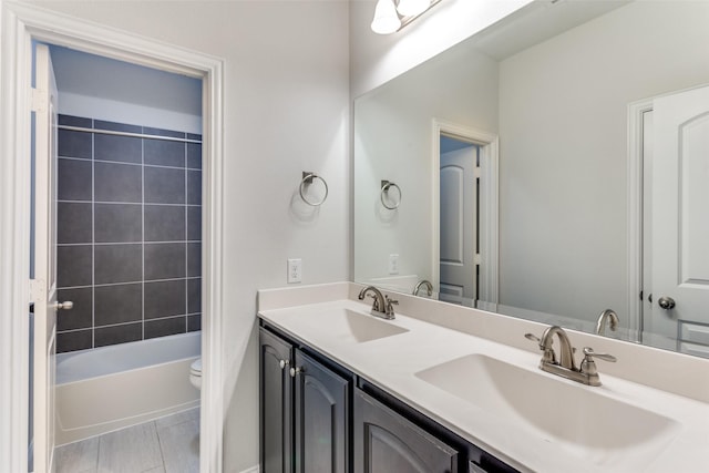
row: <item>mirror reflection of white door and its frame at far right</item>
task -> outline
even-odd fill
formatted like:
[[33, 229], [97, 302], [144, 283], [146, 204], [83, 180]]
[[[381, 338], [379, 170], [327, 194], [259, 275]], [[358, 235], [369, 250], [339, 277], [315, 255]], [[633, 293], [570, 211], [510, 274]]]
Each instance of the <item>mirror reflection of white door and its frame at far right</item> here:
[[629, 195], [630, 236], [633, 222], [637, 228], [629, 267], [638, 269], [630, 278], [637, 288], [631, 294], [639, 292], [629, 313], [637, 317], [644, 343], [709, 357], [709, 320], [703, 317], [709, 224], [698, 204], [709, 199], [709, 88], [638, 102], [629, 110], [640, 184], [637, 205]]

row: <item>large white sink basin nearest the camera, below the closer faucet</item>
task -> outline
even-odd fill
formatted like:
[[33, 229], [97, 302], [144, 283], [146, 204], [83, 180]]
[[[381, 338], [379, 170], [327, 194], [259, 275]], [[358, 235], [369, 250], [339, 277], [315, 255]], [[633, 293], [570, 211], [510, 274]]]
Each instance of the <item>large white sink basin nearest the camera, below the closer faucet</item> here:
[[679, 430], [676, 421], [604, 395], [600, 388], [484, 354], [458, 358], [415, 376], [545, 442], [559, 444], [584, 461], [614, 471], [648, 464]]

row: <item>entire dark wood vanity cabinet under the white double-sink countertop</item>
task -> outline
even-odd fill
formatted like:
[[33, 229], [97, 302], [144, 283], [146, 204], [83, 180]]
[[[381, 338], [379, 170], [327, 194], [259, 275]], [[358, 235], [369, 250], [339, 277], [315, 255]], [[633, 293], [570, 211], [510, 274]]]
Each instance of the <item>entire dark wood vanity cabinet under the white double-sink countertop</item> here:
[[259, 336], [263, 473], [516, 473], [277, 328]]

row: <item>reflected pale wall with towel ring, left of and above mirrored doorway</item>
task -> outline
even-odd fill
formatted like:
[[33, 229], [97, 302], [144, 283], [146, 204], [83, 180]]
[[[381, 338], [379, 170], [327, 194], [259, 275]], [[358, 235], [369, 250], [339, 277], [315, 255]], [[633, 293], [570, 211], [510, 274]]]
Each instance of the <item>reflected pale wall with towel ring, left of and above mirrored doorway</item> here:
[[[433, 280], [433, 119], [495, 134], [497, 62], [460, 45], [395, 78], [354, 105], [354, 280], [388, 273]], [[444, 78], [444, 79], [443, 79]], [[425, 91], [425, 93], [422, 93]], [[436, 158], [438, 162], [438, 158]], [[380, 203], [380, 182], [402, 191], [397, 210]], [[438, 270], [435, 271], [438, 274]], [[411, 287], [400, 288], [407, 292]], [[438, 289], [436, 289], [438, 290]]]

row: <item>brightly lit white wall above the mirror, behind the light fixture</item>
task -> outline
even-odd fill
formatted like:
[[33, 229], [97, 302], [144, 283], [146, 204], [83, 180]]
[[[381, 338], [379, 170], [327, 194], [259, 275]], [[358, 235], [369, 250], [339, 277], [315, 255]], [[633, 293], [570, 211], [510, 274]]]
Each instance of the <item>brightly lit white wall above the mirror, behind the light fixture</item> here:
[[394, 34], [370, 29], [376, 0], [350, 2], [351, 95], [357, 97], [470, 38], [532, 0], [443, 0]]

